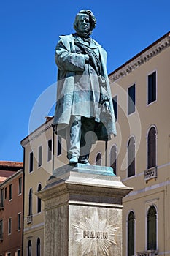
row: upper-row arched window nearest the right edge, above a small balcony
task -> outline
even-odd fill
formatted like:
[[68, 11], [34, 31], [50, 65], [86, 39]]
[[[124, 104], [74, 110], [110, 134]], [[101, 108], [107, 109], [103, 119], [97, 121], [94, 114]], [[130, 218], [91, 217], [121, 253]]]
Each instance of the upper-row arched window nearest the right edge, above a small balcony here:
[[156, 130], [151, 127], [147, 137], [147, 168], [156, 166]]

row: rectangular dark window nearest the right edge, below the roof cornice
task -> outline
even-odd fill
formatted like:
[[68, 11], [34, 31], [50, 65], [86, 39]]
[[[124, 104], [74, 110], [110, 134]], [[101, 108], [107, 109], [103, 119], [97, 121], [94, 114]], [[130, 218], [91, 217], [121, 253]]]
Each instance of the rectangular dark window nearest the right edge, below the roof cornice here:
[[156, 72], [152, 72], [152, 74], [147, 77], [147, 104], [151, 102], [155, 102], [156, 100]]

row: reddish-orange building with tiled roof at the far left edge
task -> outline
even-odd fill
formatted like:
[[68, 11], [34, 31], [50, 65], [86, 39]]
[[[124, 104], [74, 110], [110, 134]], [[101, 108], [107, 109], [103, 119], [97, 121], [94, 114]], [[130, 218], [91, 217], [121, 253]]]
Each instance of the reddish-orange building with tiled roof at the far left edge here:
[[3, 162], [3, 164], [6, 170], [1, 170], [1, 175], [5, 176], [5, 171], [7, 171], [6, 176], [14, 173], [0, 184], [0, 255], [21, 256], [23, 255], [23, 170], [20, 167], [23, 167], [23, 163]]

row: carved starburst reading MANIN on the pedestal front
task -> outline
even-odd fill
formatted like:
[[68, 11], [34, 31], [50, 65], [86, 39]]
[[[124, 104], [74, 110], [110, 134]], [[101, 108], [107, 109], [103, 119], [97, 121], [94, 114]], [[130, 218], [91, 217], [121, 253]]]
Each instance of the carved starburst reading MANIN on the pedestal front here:
[[107, 219], [100, 218], [98, 211], [91, 217], [73, 225], [75, 229], [75, 243], [81, 247], [80, 256], [92, 254], [93, 256], [109, 256], [109, 247], [117, 246], [117, 230], [107, 223]]

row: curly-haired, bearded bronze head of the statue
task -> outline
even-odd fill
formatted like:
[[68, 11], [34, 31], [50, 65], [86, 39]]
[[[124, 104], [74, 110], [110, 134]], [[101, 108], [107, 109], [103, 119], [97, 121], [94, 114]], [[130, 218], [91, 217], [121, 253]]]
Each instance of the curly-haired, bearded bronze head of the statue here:
[[[85, 20], [86, 26], [81, 26]], [[91, 10], [81, 10], [74, 20], [74, 29], [82, 37], [88, 37], [96, 27], [96, 18]]]

